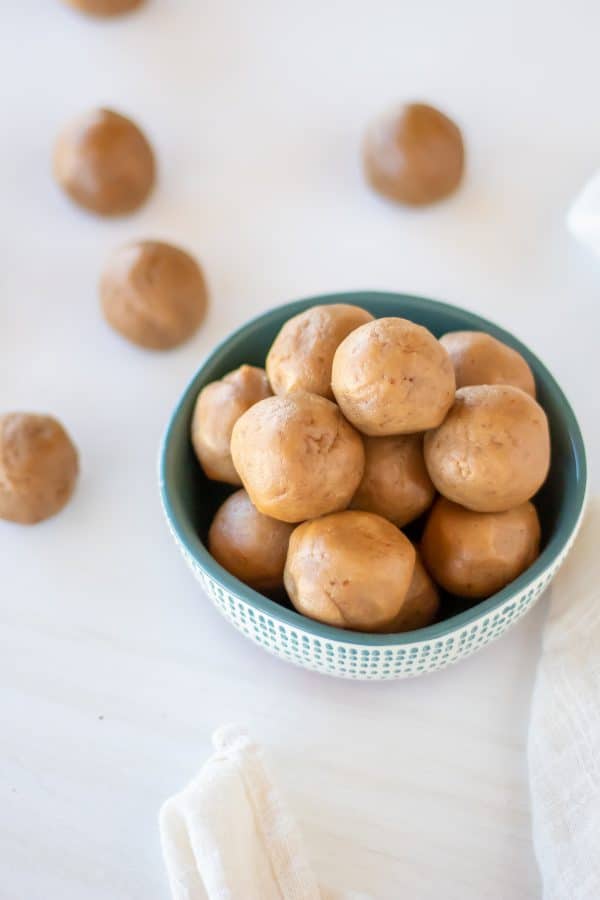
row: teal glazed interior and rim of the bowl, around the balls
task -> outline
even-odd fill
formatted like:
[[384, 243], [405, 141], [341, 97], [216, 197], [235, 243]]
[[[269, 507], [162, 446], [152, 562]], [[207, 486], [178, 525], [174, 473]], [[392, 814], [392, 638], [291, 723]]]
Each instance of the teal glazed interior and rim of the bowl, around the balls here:
[[[552, 464], [546, 484], [535, 498], [542, 524], [542, 553], [538, 560], [516, 581], [481, 603], [472, 605], [456, 598], [444, 598], [442, 621], [402, 635], [358, 634], [306, 619], [282, 598], [263, 597], [233, 578], [213, 560], [204, 546], [214, 513], [234, 488], [209, 481], [194, 456], [189, 434], [198, 392], [243, 363], [264, 366], [273, 339], [291, 316], [317, 303], [341, 302], [363, 306], [376, 317], [411, 319], [437, 337], [457, 330], [489, 332], [514, 347], [528, 361], [535, 375], [538, 399], [550, 422]], [[577, 526], [585, 498], [586, 464], [579, 426], [564, 394], [546, 367], [513, 335], [486, 319], [445, 303], [406, 294], [364, 291], [285, 304], [253, 319], [226, 338], [192, 378], [173, 413], [161, 449], [160, 486], [166, 514], [178, 539], [198, 564], [228, 591], [304, 631], [346, 643], [381, 645], [411, 643], [448, 634], [532, 583], [560, 553]]]

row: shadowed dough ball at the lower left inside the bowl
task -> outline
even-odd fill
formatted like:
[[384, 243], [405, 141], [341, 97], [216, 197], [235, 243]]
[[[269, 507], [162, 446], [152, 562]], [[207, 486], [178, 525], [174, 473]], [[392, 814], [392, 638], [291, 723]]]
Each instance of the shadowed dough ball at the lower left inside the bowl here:
[[283, 587], [283, 569], [293, 525], [263, 516], [246, 491], [236, 491], [219, 508], [208, 532], [217, 562], [256, 591]]

